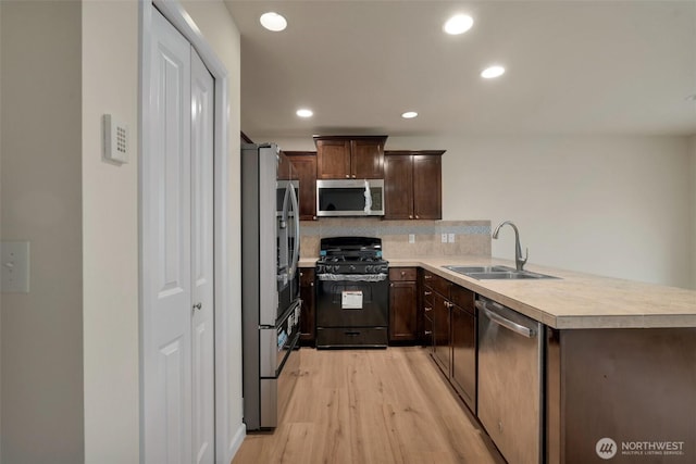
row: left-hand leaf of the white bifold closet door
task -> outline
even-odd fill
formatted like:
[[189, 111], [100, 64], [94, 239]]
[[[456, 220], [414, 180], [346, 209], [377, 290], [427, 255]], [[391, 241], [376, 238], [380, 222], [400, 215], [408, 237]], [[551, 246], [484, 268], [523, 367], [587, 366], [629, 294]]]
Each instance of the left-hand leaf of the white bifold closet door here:
[[145, 461], [191, 460], [190, 46], [152, 11], [142, 162]]

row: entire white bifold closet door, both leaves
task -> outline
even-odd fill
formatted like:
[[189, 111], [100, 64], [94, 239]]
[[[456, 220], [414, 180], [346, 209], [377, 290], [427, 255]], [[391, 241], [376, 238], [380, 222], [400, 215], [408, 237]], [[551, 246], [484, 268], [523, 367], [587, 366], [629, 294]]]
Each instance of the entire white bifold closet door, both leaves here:
[[213, 80], [152, 10], [142, 161], [144, 459], [214, 461]]

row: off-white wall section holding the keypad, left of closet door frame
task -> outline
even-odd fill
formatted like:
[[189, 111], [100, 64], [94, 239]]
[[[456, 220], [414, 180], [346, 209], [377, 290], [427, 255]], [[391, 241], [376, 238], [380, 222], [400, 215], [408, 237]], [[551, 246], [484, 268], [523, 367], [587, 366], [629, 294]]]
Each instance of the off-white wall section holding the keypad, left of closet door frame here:
[[[139, 459], [138, 5], [83, 2], [85, 462]], [[102, 160], [102, 114], [128, 125], [129, 162]]]

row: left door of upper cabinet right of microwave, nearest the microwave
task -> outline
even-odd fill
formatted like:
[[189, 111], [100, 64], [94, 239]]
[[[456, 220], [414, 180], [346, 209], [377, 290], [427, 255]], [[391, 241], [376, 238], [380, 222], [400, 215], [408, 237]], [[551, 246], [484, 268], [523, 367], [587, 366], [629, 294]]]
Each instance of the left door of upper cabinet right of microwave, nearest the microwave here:
[[384, 218], [413, 218], [413, 163], [411, 155], [384, 156]]

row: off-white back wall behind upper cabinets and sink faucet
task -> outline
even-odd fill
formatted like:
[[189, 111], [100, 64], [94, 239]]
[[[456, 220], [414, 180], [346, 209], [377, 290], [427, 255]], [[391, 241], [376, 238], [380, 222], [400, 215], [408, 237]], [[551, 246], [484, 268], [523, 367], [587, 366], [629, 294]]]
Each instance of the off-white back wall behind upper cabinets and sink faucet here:
[[[689, 288], [696, 203], [687, 140], [389, 137], [386, 149], [447, 150], [443, 218], [490, 220], [494, 227], [514, 222], [530, 263]], [[285, 150], [314, 150], [309, 137], [274, 141]], [[493, 255], [512, 260], [513, 237], [502, 229]]]

